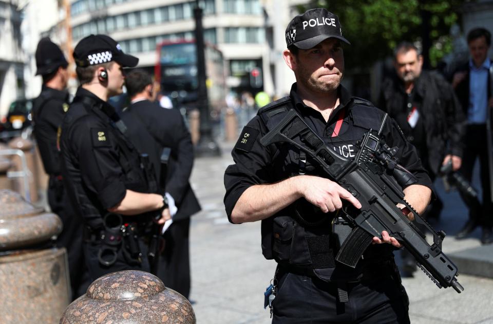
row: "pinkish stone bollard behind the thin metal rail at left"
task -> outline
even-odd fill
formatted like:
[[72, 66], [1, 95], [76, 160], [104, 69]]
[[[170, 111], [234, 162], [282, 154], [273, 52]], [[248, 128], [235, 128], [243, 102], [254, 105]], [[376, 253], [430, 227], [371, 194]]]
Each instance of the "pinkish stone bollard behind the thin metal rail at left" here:
[[[34, 163], [34, 144], [29, 139], [24, 139], [22, 137], [15, 137], [10, 140], [9, 147], [11, 149], [18, 149], [24, 152], [26, 156], [27, 168], [29, 169], [29, 194], [31, 197], [31, 202], [37, 202], [39, 197], [37, 195], [37, 186], [34, 179], [34, 174], [36, 172]], [[13, 164], [16, 170], [22, 171], [21, 158], [17, 155], [12, 156]], [[17, 181], [14, 186], [14, 190], [18, 192], [24, 192], [24, 185], [22, 181]]]

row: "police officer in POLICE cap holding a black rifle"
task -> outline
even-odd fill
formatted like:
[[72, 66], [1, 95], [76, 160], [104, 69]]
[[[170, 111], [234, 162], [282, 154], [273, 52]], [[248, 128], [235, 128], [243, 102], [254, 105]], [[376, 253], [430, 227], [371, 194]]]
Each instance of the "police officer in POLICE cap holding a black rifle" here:
[[[409, 322], [408, 300], [392, 251], [400, 247], [386, 231], [373, 238], [355, 269], [334, 260], [332, 220], [344, 204], [361, 204], [344, 188], [318, 176], [314, 160], [290, 145], [260, 144], [262, 136], [294, 109], [326, 144], [353, 158], [357, 141], [378, 129], [384, 113], [352, 98], [340, 85], [343, 37], [336, 15], [311, 9], [294, 17], [283, 52], [296, 83], [289, 97], [263, 107], [243, 129], [224, 175], [230, 222], [261, 220], [262, 252], [278, 263], [272, 301], [274, 323]], [[418, 211], [430, 200], [431, 182], [415, 149], [396, 123], [382, 131], [396, 157], [418, 182], [404, 188]], [[380, 244], [390, 243], [390, 244]], [[349, 301], [349, 302], [348, 302]]]

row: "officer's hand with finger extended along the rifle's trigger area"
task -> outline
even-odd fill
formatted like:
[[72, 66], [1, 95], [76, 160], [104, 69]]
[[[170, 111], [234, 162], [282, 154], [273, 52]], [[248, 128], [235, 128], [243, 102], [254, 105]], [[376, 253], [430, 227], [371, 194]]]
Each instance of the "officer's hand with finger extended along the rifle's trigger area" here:
[[302, 195], [323, 212], [342, 208], [341, 198], [349, 201], [354, 207], [361, 208], [361, 204], [349, 191], [329, 179], [312, 175], [301, 175], [299, 179]]

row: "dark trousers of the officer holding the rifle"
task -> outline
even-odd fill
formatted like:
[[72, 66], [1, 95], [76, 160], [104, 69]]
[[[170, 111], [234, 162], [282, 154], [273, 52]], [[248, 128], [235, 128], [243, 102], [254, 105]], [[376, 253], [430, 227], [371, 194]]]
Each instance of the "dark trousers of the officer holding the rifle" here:
[[349, 301], [337, 300], [337, 284], [286, 273], [278, 279], [273, 324], [409, 323], [409, 300], [400, 278], [347, 283]]

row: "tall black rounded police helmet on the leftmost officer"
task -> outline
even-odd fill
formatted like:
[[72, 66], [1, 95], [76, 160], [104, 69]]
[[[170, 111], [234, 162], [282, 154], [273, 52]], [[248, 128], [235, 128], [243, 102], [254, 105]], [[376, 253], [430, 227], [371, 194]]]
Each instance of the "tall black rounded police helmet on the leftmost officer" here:
[[54, 72], [60, 66], [67, 66], [68, 62], [58, 45], [48, 37], [42, 38], [36, 48], [36, 76]]

